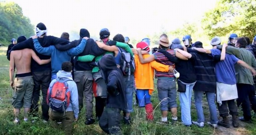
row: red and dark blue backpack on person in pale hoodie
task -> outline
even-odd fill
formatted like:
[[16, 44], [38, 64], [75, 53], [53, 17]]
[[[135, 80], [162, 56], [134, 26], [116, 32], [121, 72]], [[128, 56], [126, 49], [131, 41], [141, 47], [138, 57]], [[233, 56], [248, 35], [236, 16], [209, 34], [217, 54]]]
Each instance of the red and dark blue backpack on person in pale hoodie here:
[[56, 78], [56, 82], [48, 88], [47, 104], [52, 110], [63, 113], [69, 106], [70, 90], [68, 89], [68, 78]]

